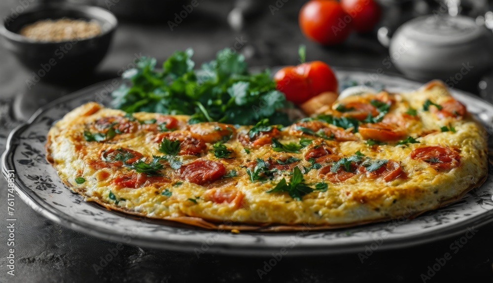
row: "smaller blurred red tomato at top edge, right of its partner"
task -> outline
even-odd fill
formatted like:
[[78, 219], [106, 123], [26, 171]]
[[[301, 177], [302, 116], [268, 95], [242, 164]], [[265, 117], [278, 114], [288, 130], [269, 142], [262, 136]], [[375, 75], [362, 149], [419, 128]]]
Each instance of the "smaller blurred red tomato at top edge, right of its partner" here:
[[341, 0], [341, 6], [352, 17], [357, 32], [369, 32], [380, 21], [382, 11], [375, 0]]

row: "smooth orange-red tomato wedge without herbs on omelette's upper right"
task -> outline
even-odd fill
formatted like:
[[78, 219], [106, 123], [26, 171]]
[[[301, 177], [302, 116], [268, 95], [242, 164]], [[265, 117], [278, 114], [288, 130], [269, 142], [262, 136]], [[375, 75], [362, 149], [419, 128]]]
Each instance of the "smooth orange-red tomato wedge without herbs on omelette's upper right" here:
[[406, 136], [401, 128], [383, 122], [361, 124], [358, 131], [365, 140], [398, 141]]

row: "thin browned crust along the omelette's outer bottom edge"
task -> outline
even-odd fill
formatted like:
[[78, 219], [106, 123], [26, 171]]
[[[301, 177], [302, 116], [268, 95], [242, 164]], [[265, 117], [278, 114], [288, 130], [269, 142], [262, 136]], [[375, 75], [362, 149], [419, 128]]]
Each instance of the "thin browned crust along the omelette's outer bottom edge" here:
[[[46, 141], [46, 144], [45, 144], [45, 148], [46, 148], [46, 152], [47, 152], [47, 154], [46, 154], [46, 160], [53, 166], [54, 165], [54, 160], [53, 160], [53, 158], [51, 156], [51, 151], [49, 149], [50, 148], [50, 145], [51, 145], [51, 139], [50, 139], [50, 136], [48, 136], [47, 141]], [[487, 149], [484, 150], [484, 153], [486, 154], [487, 157], [489, 156]], [[462, 199], [470, 190], [481, 187], [485, 183], [485, 181], [488, 179], [488, 163], [487, 163], [487, 168], [485, 170], [485, 173], [486, 174], [482, 178], [481, 181], [479, 181], [476, 184], [473, 184], [473, 185], [469, 186], [467, 189], [463, 190], [462, 193], [459, 194], [458, 196], [456, 196], [454, 198], [446, 199], [444, 201], [441, 201], [438, 206], [435, 206], [433, 208], [429, 208], [429, 209], [423, 210], [421, 212], [416, 212], [416, 213], [414, 213], [414, 214], [412, 214], [412, 215], [410, 215], [409, 217], [406, 217], [406, 218], [407, 219], [413, 219], [413, 218], [421, 215], [424, 212], [428, 212], [428, 211], [439, 209], [441, 207], [447, 206], [447, 205], [449, 205], [451, 203], [454, 203], [454, 202]], [[83, 190], [76, 189], [74, 186], [72, 186], [72, 184], [70, 184], [70, 182], [68, 182], [68, 181], [66, 181], [64, 179], [62, 179], [62, 181], [64, 182], [64, 184], [66, 186], [68, 186], [70, 188], [71, 191], [76, 192], [79, 195], [81, 195], [80, 193], [83, 192]], [[82, 189], [85, 189], [85, 188], [82, 188]], [[153, 220], [156, 220], [157, 219], [157, 218], [147, 217], [144, 213], [141, 213], [141, 212], [135, 212], [135, 211], [127, 210], [127, 209], [124, 209], [124, 208], [114, 208], [111, 205], [106, 204], [103, 201], [98, 200], [98, 199], [87, 198], [87, 197], [84, 197], [84, 199], [86, 201], [95, 202], [95, 203], [97, 203], [97, 204], [105, 207], [109, 211], [113, 210], [113, 211], [124, 212], [124, 213], [127, 213], [127, 214], [136, 215], [136, 216], [140, 216], [140, 217], [145, 217], [145, 218], [148, 218], [148, 219], [153, 219]], [[347, 224], [336, 224], [336, 225], [330, 225], [330, 224], [329, 225], [310, 225], [309, 223], [306, 223], [306, 225], [276, 225], [276, 224], [259, 225], [259, 224], [255, 224], [255, 223], [252, 223], [252, 224], [234, 224], [234, 223], [232, 223], [232, 224], [224, 224], [224, 223], [223, 224], [219, 224], [217, 222], [211, 222], [211, 221], [205, 220], [203, 218], [192, 217], [192, 216], [180, 216], [180, 217], [166, 216], [164, 218], [159, 218], [159, 219], [169, 220], [169, 221], [174, 221], [174, 222], [179, 222], [179, 223], [182, 223], [182, 224], [187, 224], [187, 225], [196, 226], [196, 227], [200, 227], [200, 228], [204, 228], [204, 229], [209, 229], [209, 230], [225, 230], [225, 231], [237, 230], [237, 231], [255, 231], [255, 232], [286, 232], [286, 231], [327, 230], [327, 229], [347, 228], [347, 227], [352, 227], [352, 226], [357, 226], [357, 225], [363, 225], [363, 224], [369, 224], [369, 223], [384, 222], [384, 221], [388, 221], [388, 220], [391, 220], [391, 219], [395, 219], [395, 217], [375, 218], [375, 219], [366, 220], [366, 221], [357, 221], [357, 222], [352, 222], [352, 223], [347, 223]]]

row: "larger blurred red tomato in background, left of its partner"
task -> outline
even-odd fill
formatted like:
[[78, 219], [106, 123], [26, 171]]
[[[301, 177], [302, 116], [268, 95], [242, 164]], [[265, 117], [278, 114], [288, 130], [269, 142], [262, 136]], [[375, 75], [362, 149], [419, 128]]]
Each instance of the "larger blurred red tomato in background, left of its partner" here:
[[351, 22], [351, 16], [336, 0], [310, 0], [299, 14], [303, 34], [325, 45], [344, 41], [351, 33]]

